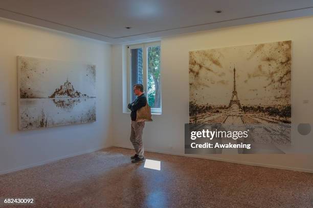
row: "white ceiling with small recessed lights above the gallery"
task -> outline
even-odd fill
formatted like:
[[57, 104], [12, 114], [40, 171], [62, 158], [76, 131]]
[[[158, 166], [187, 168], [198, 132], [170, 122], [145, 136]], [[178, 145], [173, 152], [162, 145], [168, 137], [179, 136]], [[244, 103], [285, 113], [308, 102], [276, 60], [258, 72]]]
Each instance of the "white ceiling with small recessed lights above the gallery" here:
[[313, 0], [0, 0], [0, 17], [109, 43], [310, 15]]

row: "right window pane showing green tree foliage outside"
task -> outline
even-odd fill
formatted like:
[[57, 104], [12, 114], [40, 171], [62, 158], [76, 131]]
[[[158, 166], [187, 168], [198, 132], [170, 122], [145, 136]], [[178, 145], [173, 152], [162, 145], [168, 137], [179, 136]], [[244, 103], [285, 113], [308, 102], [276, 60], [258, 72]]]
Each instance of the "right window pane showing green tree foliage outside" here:
[[147, 48], [147, 94], [151, 108], [161, 108], [160, 46]]

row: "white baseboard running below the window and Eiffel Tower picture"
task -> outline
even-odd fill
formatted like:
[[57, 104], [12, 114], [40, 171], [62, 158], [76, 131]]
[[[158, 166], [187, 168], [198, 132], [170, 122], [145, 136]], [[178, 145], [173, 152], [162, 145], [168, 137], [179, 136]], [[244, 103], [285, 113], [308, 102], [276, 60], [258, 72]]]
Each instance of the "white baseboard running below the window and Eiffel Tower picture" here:
[[[125, 146], [125, 145], [118, 145], [118, 144], [115, 144], [113, 146], [121, 147], [121, 148], [127, 148], [127, 149], [133, 149], [132, 146]], [[208, 160], [214, 160], [214, 161], [237, 163], [237, 164], [242, 164], [242, 165], [260, 166], [260, 167], [265, 167], [265, 168], [276, 168], [276, 169], [282, 169], [282, 170], [292, 170], [292, 171], [313, 173], [312, 169], [295, 168], [295, 167], [287, 167], [287, 166], [279, 166], [279, 165], [270, 165], [270, 164], [263, 164], [263, 163], [252, 163], [252, 162], [244, 162], [244, 161], [242, 162], [242, 161], [236, 161], [236, 160], [215, 158], [215, 157], [211, 157], [209, 155], [183, 154], [183, 153], [178, 153], [178, 152], [160, 151], [160, 150], [147, 149], [147, 148], [145, 148], [145, 150], [150, 151], [150, 152], [162, 153], [162, 154], [171, 154], [171, 155], [178, 155], [178, 156], [191, 157], [191, 158], [202, 158], [202, 159], [208, 159]]]

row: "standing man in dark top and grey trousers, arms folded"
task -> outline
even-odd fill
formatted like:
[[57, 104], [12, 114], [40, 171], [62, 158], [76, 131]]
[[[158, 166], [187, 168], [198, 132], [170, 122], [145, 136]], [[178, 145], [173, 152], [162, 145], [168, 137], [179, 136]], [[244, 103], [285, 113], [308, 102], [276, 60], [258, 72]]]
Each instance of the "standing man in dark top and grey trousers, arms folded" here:
[[145, 161], [144, 158], [144, 146], [142, 142], [143, 128], [145, 127], [145, 122], [136, 122], [137, 110], [146, 106], [147, 98], [143, 93], [143, 85], [136, 84], [133, 86], [133, 93], [137, 95], [137, 98], [132, 103], [128, 104], [128, 109], [131, 110], [131, 133], [130, 142], [135, 148], [136, 154], [130, 157], [132, 163], [141, 163]]

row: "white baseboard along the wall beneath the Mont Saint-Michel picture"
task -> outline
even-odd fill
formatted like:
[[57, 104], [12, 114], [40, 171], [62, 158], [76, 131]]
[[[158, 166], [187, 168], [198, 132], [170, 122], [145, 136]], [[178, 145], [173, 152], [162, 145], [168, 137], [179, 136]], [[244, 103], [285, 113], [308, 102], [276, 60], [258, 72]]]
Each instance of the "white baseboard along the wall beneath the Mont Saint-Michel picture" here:
[[30, 164], [30, 165], [25, 165], [25, 166], [20, 166], [20, 167], [8, 169], [8, 170], [0, 171], [0, 175], [6, 174], [6, 173], [15, 172], [15, 171], [18, 171], [18, 170], [24, 170], [24, 169], [27, 169], [27, 168], [32, 168], [32, 167], [36, 167], [36, 166], [40, 166], [40, 165], [44, 165], [44, 164], [48, 164], [48, 163], [55, 162], [55, 161], [58, 161], [58, 160], [62, 160], [62, 159], [65, 159], [65, 158], [72, 158], [72, 157], [77, 156], [77, 155], [94, 152], [94, 151], [97, 151], [97, 150], [100, 150], [100, 149], [103, 149], [103, 148], [107, 148], [107, 147], [111, 147], [111, 146], [112, 145], [107, 145], [107, 146], [103, 146], [103, 147], [97, 147], [97, 148], [94, 148], [94, 149], [88, 149], [88, 150], [84, 150], [84, 151], [81, 151], [81, 152], [76, 152], [76, 153], [73, 153], [73, 154], [68, 154], [68, 155], [65, 155], [65, 156], [54, 158], [54, 159], [51, 159], [51, 160], [41, 161], [39, 163], [33, 163], [33, 164]]

